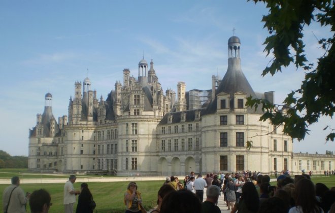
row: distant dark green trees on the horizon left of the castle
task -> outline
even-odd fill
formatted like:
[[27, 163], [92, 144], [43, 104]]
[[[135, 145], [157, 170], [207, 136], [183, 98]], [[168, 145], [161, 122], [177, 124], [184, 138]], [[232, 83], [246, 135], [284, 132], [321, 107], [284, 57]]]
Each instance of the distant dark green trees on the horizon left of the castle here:
[[5, 151], [0, 150], [0, 168], [27, 168], [28, 157], [11, 156]]

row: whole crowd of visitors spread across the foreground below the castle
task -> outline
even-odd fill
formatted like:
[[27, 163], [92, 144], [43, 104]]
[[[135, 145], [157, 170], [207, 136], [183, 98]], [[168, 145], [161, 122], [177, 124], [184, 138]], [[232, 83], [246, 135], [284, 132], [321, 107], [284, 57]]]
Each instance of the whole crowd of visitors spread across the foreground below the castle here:
[[[3, 192], [4, 212], [25, 212], [27, 202], [32, 213], [49, 211], [52, 203], [46, 190], [39, 189], [31, 194], [24, 194], [19, 187], [19, 177], [12, 177], [11, 182], [12, 185]], [[70, 175], [69, 181], [64, 185], [64, 212], [72, 213], [75, 209], [76, 213], [92, 213], [95, 202], [87, 183], [81, 184], [81, 190], [75, 190], [75, 182], [76, 176]], [[202, 174], [195, 176], [191, 172], [185, 176], [183, 182], [176, 176], [170, 176], [166, 177], [158, 190], [157, 206], [151, 213], [219, 213], [221, 210], [217, 206], [218, 202], [224, 202], [231, 213], [335, 213], [335, 187], [329, 189], [322, 183], [314, 184], [309, 174], [303, 173], [292, 178], [287, 172], [282, 172], [277, 176], [276, 185], [272, 185], [269, 175], [250, 171], [208, 173], [205, 177]], [[204, 201], [205, 188], [207, 190]], [[75, 208], [76, 195], [79, 196]], [[146, 212], [135, 182], [130, 182], [127, 186], [124, 205], [126, 213]]]

